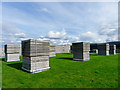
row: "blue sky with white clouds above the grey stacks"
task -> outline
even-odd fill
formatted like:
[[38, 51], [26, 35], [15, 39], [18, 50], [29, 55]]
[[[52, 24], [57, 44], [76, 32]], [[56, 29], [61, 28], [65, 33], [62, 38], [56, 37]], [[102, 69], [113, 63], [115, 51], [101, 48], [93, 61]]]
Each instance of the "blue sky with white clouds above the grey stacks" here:
[[118, 40], [117, 2], [4, 2], [2, 41], [29, 38], [51, 44]]

